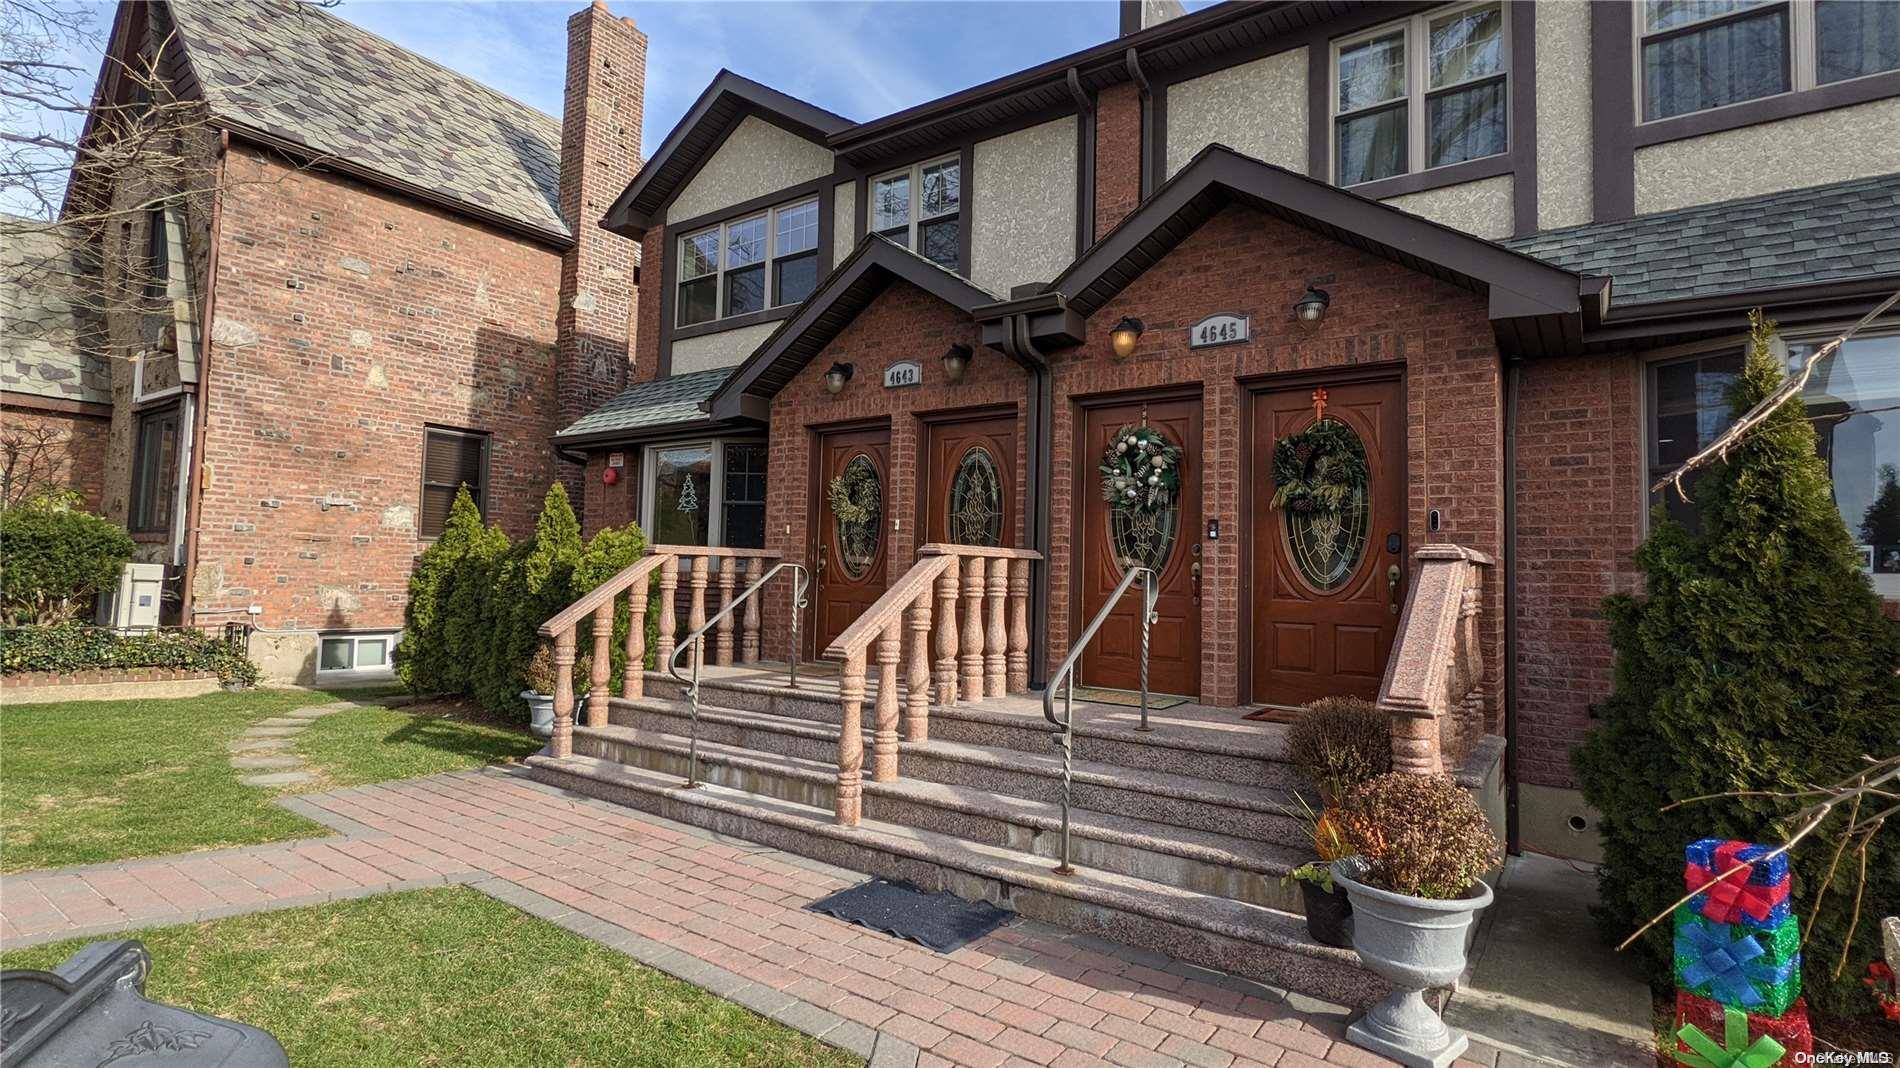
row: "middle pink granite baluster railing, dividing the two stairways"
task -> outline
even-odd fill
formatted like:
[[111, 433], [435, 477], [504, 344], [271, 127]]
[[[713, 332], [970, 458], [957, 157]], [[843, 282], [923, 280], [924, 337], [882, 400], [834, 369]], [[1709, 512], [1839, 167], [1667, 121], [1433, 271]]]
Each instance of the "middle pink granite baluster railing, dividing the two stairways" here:
[[[836, 794], [842, 827], [857, 827], [863, 815], [866, 665], [878, 665], [870, 777], [889, 783], [897, 777], [899, 735], [929, 739], [931, 699], [948, 705], [1030, 688], [1030, 563], [1039, 559], [1034, 549], [923, 545], [918, 563], [825, 648], [826, 659], [844, 663]], [[901, 667], [908, 688], [902, 713]]]

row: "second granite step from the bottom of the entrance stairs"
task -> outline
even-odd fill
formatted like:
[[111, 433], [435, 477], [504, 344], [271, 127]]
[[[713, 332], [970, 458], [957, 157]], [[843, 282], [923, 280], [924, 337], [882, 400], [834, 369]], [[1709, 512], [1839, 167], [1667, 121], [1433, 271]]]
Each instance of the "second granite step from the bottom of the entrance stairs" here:
[[[825, 760], [762, 753], [718, 737], [722, 732], [714, 720], [743, 715], [747, 713], [701, 711], [699, 779], [830, 811], [838, 775], [836, 732], [823, 739]], [[785, 726], [796, 732], [823, 730]], [[688, 749], [686, 735], [661, 730], [608, 726], [574, 732], [574, 751], [580, 754], [671, 773], [682, 781], [688, 775]], [[902, 760], [901, 753], [899, 770]], [[874, 819], [971, 842], [1043, 857], [1060, 855], [1062, 810], [1054, 800], [1003, 796], [967, 783], [866, 779], [864, 811]], [[1070, 855], [1079, 865], [1300, 910], [1298, 887], [1282, 884], [1281, 876], [1309, 859], [1303, 846], [1155, 823], [1079, 804], [1070, 811]]]

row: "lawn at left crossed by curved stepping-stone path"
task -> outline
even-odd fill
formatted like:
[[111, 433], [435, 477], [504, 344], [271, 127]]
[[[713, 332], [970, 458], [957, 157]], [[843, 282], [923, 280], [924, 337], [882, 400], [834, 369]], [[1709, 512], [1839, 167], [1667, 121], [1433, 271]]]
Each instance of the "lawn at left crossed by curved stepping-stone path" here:
[[[329, 834], [245, 787], [226, 743], [256, 720], [374, 694], [247, 690], [165, 701], [72, 701], [0, 709], [0, 872], [251, 846]], [[314, 783], [359, 785], [477, 768], [540, 741], [439, 709], [353, 709], [294, 743]]]

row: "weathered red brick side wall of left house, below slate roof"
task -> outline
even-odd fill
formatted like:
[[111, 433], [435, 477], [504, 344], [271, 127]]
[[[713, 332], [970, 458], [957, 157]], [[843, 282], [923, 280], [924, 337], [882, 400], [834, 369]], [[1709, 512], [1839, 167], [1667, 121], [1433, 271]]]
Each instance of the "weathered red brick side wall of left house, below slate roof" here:
[[198, 608], [399, 625], [426, 424], [492, 433], [511, 536], [555, 477], [560, 257], [238, 143], [228, 167]]

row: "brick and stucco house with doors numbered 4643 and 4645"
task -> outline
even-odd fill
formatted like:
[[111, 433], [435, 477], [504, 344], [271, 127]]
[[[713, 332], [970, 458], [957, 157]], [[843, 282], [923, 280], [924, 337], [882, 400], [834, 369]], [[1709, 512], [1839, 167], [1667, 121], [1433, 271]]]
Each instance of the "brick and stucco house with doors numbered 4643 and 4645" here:
[[[606, 217], [652, 283], [635, 384], [557, 435], [589, 523], [819, 568], [808, 656], [925, 542], [1037, 549], [1037, 680], [1148, 555], [1155, 688], [1235, 715], [1378, 694], [1414, 551], [1455, 542], [1497, 561], [1474, 726], [1512, 842], [1590, 855], [1600, 604], [1649, 505], [1695, 509], [1651, 475], [1721, 429], [1750, 308], [1801, 352], [1900, 289], [1900, 4], [1167, 10], [870, 122], [714, 78]], [[1738, 25], [1784, 63], [1702, 67]], [[1856, 532], [1896, 355], [1890, 315], [1807, 391]], [[1370, 462], [1334, 540], [1269, 505], [1320, 397]], [[1100, 500], [1140, 424], [1188, 458], [1159, 530]], [[825, 494], [853, 464], [864, 530]], [[1900, 545], [1868, 557], [1900, 601]], [[1083, 684], [1134, 686], [1123, 616]]]

